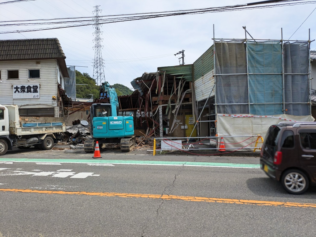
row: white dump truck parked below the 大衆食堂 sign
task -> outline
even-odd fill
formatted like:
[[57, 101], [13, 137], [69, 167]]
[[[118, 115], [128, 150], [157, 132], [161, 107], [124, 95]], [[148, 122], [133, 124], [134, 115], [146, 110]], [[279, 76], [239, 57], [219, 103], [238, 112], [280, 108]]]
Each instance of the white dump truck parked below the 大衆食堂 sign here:
[[56, 137], [64, 131], [62, 118], [20, 117], [17, 105], [0, 105], [0, 155], [14, 147], [52, 149]]

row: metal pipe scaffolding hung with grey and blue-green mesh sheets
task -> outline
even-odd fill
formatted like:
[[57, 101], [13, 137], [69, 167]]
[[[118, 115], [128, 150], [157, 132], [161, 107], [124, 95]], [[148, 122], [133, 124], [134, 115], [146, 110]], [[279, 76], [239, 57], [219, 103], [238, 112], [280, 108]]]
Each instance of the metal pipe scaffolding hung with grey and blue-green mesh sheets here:
[[310, 30], [308, 40], [283, 40], [282, 28], [281, 39], [266, 40], [243, 28], [245, 39], [219, 39], [213, 25], [216, 116], [311, 115]]

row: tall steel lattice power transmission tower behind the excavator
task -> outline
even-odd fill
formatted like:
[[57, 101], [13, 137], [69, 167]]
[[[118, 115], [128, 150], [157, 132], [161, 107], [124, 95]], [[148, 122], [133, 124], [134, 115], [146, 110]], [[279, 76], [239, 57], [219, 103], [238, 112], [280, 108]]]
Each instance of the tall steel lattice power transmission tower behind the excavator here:
[[101, 45], [101, 41], [103, 39], [100, 37], [103, 33], [100, 31], [100, 27], [102, 24], [100, 24], [101, 17], [99, 16], [99, 13], [102, 12], [101, 9], [99, 9], [100, 5], [94, 6], [94, 63], [93, 63], [93, 79], [95, 80], [97, 85], [101, 85], [102, 82], [105, 82], [105, 76], [104, 76], [104, 66], [103, 66], [103, 59], [102, 59], [102, 52], [101, 49], [103, 48], [103, 45]]

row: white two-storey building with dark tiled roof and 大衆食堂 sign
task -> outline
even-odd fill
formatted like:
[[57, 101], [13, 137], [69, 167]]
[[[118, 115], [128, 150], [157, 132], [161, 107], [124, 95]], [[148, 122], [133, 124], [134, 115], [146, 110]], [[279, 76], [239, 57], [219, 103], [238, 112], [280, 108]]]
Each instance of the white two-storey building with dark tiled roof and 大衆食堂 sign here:
[[61, 117], [65, 58], [57, 38], [0, 40], [0, 104], [18, 105], [21, 116]]

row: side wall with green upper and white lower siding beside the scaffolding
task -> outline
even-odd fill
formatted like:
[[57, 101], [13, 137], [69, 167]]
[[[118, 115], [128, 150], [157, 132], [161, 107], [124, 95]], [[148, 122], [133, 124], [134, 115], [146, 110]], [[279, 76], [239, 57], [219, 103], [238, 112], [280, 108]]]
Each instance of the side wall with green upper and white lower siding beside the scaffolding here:
[[[214, 86], [213, 66], [214, 55], [213, 46], [211, 46], [193, 63], [196, 101], [206, 99]], [[215, 90], [211, 96], [214, 94]]]

